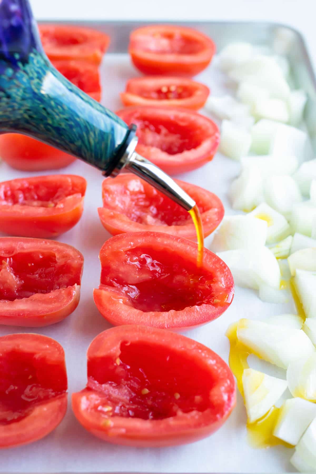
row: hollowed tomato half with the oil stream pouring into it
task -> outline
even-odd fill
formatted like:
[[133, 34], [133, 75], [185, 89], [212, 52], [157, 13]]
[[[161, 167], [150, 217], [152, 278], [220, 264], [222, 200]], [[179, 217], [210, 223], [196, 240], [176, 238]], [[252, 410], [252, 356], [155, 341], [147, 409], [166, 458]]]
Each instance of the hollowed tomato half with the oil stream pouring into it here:
[[218, 318], [234, 297], [227, 265], [197, 244], [162, 232], [111, 237], [99, 254], [101, 277], [94, 302], [111, 324], [189, 328]]

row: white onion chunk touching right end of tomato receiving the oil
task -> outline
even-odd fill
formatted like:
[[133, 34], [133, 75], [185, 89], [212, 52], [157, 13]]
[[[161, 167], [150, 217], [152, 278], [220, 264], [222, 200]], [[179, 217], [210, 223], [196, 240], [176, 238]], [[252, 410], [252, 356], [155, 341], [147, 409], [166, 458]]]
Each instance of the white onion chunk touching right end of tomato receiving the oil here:
[[236, 285], [254, 290], [262, 284], [280, 288], [280, 267], [267, 247], [226, 250], [217, 255], [230, 268]]

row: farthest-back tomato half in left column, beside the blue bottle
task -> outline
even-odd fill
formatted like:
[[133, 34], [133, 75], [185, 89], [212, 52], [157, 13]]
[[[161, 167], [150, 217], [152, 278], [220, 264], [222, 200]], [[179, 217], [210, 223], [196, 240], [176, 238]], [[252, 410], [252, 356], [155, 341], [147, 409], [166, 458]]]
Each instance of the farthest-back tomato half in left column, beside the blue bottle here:
[[39, 33], [49, 59], [79, 59], [100, 64], [110, 38], [92, 28], [72, 25], [39, 25]]

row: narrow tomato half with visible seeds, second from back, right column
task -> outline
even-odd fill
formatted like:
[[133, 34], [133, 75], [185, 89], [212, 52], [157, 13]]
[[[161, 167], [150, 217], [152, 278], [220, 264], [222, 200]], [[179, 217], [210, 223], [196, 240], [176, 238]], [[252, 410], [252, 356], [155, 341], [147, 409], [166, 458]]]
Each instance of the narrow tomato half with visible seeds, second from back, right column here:
[[147, 76], [130, 79], [120, 96], [125, 106], [159, 105], [199, 110], [204, 106], [208, 94], [207, 86], [191, 79]]

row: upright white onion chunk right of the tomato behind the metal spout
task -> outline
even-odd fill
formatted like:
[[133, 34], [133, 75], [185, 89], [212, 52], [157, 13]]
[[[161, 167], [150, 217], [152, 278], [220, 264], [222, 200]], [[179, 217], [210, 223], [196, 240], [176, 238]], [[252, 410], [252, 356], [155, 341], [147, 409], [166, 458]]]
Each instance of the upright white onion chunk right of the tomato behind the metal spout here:
[[232, 182], [229, 197], [233, 209], [244, 210], [245, 212], [252, 210], [262, 202], [262, 176], [260, 171], [255, 168], [245, 169]]

